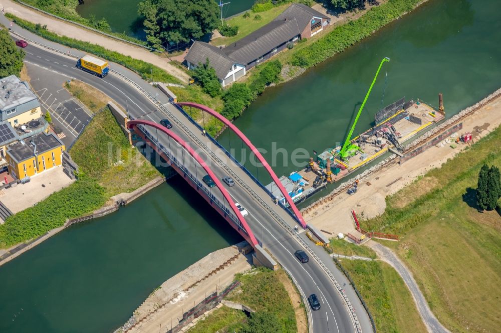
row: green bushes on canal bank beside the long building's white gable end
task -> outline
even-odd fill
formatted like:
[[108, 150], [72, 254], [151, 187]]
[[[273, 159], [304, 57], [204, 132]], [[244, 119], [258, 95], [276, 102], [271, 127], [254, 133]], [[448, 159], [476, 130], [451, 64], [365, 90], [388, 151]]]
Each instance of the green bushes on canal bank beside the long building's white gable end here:
[[267, 62], [256, 69], [259, 71], [250, 78], [249, 83], [233, 83], [222, 96], [224, 108], [221, 114], [227, 119], [231, 120], [239, 116], [245, 107], [265, 90], [267, 85], [280, 81], [282, 63], [279, 60]]

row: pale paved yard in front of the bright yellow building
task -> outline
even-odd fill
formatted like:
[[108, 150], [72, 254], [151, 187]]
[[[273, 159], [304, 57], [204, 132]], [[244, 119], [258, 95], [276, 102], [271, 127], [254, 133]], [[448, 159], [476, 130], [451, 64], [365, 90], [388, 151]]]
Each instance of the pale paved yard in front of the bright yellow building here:
[[54, 167], [31, 177], [26, 184], [0, 190], [0, 201], [16, 213], [33, 206], [73, 181], [63, 172], [62, 167]]

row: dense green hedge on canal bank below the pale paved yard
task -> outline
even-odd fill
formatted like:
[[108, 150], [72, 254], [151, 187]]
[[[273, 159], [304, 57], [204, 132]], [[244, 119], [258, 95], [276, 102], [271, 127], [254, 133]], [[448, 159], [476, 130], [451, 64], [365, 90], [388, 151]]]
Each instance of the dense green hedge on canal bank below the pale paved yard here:
[[103, 188], [81, 175], [79, 180], [35, 206], [7, 217], [0, 225], [0, 247], [41, 236], [63, 226], [67, 218], [75, 218], [101, 207], [106, 200]]

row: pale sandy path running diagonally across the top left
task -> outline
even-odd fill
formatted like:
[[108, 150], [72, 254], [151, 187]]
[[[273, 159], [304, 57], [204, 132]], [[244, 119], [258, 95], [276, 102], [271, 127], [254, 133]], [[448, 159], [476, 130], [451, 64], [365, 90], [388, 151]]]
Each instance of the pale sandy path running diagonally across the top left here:
[[55, 32], [59, 35], [92, 42], [94, 44], [106, 47], [107, 49], [117, 51], [125, 55], [130, 55], [135, 59], [140, 59], [152, 63], [160, 68], [165, 69], [168, 73], [179, 78], [183, 82], [187, 82], [189, 79], [188, 75], [184, 71], [168, 63], [168, 59], [162, 58], [150, 52], [148, 49], [134, 46], [132, 44], [107, 37], [97, 32], [93, 32], [78, 25], [45, 15], [37, 10], [25, 7], [12, 0], [4, 0], [2, 1], [2, 5], [4, 6], [6, 12], [10, 12], [13, 15], [21, 17], [33, 23], [47, 25], [47, 29], [49, 31]]

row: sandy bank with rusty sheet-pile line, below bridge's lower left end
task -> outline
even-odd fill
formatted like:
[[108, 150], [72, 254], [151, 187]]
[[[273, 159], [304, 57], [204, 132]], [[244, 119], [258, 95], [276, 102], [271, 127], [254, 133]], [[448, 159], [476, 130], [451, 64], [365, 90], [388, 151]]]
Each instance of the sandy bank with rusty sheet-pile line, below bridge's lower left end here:
[[[223, 265], [231, 260], [229, 264]], [[212, 275], [211, 271], [221, 267]], [[214, 251], [188, 268], [177, 273], [155, 290], [135, 311], [137, 321], [144, 320], [129, 332], [158, 332], [170, 329], [171, 319], [175, 326], [182, 318], [183, 310], [202, 301], [216, 288], [218, 291], [228, 286], [238, 272], [251, 268], [247, 258], [240, 254], [236, 246]], [[196, 285], [193, 285], [196, 284]]]

